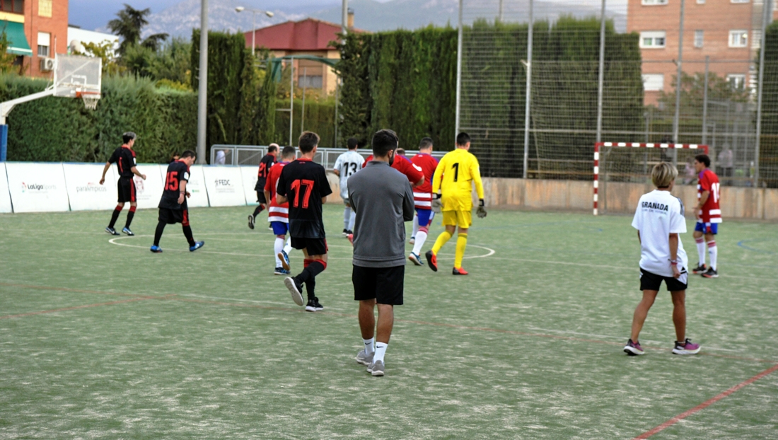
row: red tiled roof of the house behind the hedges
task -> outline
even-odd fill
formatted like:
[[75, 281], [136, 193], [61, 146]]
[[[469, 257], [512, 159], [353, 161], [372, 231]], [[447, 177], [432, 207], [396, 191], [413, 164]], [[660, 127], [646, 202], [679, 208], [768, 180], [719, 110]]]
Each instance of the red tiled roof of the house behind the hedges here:
[[[363, 30], [353, 30], [363, 32]], [[272, 51], [327, 51], [330, 41], [338, 39], [341, 26], [318, 19], [288, 21], [254, 30], [256, 47]], [[251, 48], [251, 31], [245, 33], [246, 45]]]

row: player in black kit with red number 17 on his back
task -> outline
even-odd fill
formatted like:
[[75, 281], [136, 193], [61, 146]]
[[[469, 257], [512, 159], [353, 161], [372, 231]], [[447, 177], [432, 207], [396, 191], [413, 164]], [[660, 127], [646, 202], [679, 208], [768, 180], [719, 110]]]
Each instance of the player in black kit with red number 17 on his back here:
[[284, 279], [286, 288], [297, 305], [303, 305], [303, 284], [308, 294], [307, 312], [324, 309], [316, 297], [316, 276], [327, 269], [327, 238], [321, 220], [321, 205], [332, 194], [327, 172], [314, 163], [319, 136], [314, 132], [300, 135], [300, 159], [281, 171], [275, 199], [289, 202], [289, 234], [292, 247], [302, 249], [303, 272]]

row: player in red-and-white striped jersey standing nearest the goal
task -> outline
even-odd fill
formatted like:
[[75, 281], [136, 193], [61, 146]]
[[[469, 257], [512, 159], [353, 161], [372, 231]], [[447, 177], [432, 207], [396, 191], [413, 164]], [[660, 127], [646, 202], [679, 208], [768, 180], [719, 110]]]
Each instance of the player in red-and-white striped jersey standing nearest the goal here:
[[[718, 247], [715, 236], [719, 232], [721, 223], [720, 185], [719, 178], [710, 170], [710, 157], [699, 154], [694, 158], [694, 168], [699, 173], [697, 183], [697, 205], [694, 212], [697, 224], [694, 227], [694, 241], [697, 243], [697, 255], [699, 265], [692, 270], [693, 273], [701, 273], [705, 278], [718, 278]], [[704, 239], [703, 239], [704, 236]], [[705, 248], [710, 255], [710, 267], [705, 266]]]

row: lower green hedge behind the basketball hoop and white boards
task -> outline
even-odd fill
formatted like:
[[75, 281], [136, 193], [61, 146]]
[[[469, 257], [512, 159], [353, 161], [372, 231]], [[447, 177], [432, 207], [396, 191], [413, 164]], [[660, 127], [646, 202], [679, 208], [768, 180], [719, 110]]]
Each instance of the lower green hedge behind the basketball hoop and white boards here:
[[[44, 79], [0, 76], [0, 100], [37, 93]], [[46, 97], [9, 114], [8, 160], [102, 162], [121, 145], [121, 133], [138, 134], [138, 161], [165, 162], [197, 143], [195, 93], [158, 89], [149, 79], [103, 78], [95, 111], [81, 100]]]

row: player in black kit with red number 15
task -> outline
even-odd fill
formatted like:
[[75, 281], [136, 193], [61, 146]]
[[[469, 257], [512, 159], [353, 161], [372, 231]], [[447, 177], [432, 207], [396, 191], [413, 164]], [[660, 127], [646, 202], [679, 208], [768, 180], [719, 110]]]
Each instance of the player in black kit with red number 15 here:
[[189, 167], [192, 164], [195, 164], [195, 152], [186, 150], [181, 153], [179, 160], [175, 160], [167, 166], [165, 189], [162, 193], [162, 199], [159, 200], [159, 223], [156, 224], [154, 245], [151, 247], [151, 252], [162, 252], [162, 248], [159, 248], [159, 239], [162, 238], [166, 224], [180, 223], [184, 227], [184, 237], [189, 242], [191, 252], [195, 252], [205, 245], [205, 241], [195, 241], [195, 238], [192, 237], [192, 228], [189, 226], [187, 197], [191, 194], [187, 192], [187, 182], [189, 181]]

